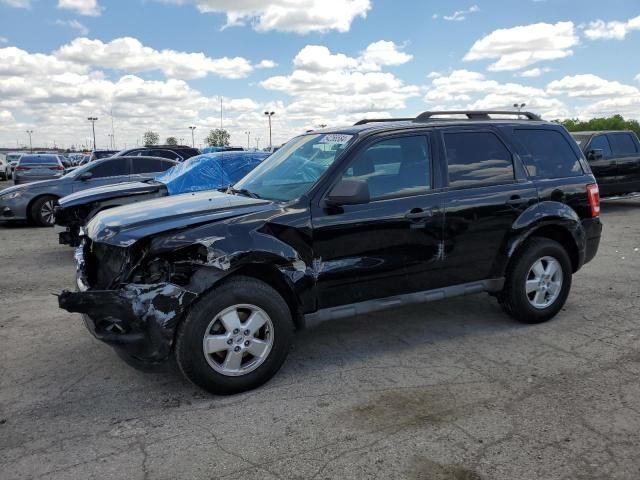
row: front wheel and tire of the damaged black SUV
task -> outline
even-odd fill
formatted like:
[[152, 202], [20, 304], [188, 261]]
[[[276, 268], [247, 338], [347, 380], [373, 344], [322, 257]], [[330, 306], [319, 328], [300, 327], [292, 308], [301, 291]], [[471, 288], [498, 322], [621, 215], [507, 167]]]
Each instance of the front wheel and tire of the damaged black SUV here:
[[[254, 327], [259, 328], [251, 331]], [[291, 312], [277, 291], [259, 280], [235, 277], [189, 311], [178, 327], [175, 356], [191, 382], [211, 393], [231, 395], [256, 388], [276, 374], [293, 343], [293, 331]]]

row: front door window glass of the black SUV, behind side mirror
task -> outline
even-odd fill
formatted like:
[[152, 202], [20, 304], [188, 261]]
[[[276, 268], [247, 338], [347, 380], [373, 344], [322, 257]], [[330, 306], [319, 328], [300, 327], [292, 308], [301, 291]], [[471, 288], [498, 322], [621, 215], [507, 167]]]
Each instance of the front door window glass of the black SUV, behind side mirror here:
[[342, 178], [365, 180], [372, 200], [425, 193], [431, 189], [427, 137], [377, 142], [357, 155]]

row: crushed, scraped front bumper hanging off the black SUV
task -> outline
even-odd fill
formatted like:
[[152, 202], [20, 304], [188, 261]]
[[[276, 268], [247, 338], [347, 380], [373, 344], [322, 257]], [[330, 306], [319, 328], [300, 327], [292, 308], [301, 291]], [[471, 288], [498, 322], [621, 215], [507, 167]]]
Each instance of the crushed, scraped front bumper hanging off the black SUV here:
[[119, 290], [65, 290], [58, 305], [82, 313], [99, 340], [153, 363], [169, 356], [178, 322], [196, 297], [172, 283], [129, 284]]

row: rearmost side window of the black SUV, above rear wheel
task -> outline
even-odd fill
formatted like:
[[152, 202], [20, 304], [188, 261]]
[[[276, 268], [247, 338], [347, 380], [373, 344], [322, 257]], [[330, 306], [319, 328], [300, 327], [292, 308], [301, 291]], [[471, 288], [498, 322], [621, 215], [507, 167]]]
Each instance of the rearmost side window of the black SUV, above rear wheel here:
[[520, 157], [530, 177], [577, 177], [584, 173], [578, 156], [560, 132], [516, 129], [514, 135], [522, 149]]

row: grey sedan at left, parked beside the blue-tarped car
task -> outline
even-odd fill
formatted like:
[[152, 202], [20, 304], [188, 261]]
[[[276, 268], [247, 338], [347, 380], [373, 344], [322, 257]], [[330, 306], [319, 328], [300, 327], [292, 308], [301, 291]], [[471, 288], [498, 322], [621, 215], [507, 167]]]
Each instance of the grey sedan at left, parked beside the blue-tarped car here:
[[176, 163], [166, 158], [111, 157], [87, 163], [58, 179], [9, 187], [0, 190], [0, 220], [52, 226], [59, 198], [100, 185], [152, 178]]

